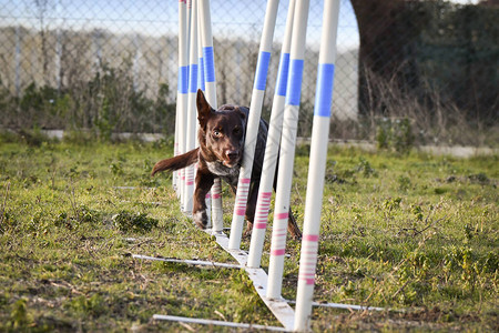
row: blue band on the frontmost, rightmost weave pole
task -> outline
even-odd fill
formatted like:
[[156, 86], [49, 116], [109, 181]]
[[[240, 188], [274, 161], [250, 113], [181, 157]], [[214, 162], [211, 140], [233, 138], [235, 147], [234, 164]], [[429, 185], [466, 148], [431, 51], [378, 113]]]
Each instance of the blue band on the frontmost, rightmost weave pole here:
[[315, 94], [314, 115], [329, 118], [335, 78], [335, 64], [319, 63], [317, 72], [317, 91]]

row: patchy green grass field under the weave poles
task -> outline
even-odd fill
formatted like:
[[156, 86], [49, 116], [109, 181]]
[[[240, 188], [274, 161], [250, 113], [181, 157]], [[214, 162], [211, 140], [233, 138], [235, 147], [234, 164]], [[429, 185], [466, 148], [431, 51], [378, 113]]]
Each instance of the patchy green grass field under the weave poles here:
[[[0, 140], [0, 331], [185, 331], [154, 313], [278, 325], [242, 271], [131, 258], [232, 262], [180, 212], [171, 176], [149, 176], [171, 142]], [[307, 151], [292, 194], [301, 224]], [[499, 330], [497, 165], [332, 148], [315, 297], [400, 311], [315, 309], [313, 329]], [[299, 242], [288, 253], [294, 299]]]

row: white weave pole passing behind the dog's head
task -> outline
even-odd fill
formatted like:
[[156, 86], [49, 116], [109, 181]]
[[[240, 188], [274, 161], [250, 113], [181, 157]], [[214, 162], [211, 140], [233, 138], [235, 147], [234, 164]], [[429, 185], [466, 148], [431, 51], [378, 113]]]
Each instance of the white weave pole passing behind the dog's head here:
[[[215, 60], [213, 57], [213, 36], [212, 36], [212, 18], [210, 13], [210, 0], [200, 0], [200, 24], [201, 24], [201, 42], [203, 46], [204, 79], [206, 89], [206, 100], [213, 109], [217, 109], [216, 104], [216, 81], [215, 81]], [[223, 211], [222, 211], [222, 183], [220, 178], [215, 178], [211, 193], [212, 201], [212, 221], [213, 231], [223, 230]]]

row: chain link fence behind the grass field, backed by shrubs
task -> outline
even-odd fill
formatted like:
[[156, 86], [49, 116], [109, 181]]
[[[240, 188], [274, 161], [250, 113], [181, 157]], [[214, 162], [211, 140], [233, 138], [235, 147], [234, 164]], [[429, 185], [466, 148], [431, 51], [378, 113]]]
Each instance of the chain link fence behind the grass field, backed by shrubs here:
[[[281, 1], [268, 117], [284, 34]], [[266, 1], [211, 1], [217, 99], [248, 104]], [[299, 135], [315, 97], [322, 1], [310, 1]], [[176, 1], [0, 0], [9, 129], [172, 134]], [[332, 137], [497, 144], [497, 1], [342, 0]], [[464, 134], [466, 133], [466, 135]]]

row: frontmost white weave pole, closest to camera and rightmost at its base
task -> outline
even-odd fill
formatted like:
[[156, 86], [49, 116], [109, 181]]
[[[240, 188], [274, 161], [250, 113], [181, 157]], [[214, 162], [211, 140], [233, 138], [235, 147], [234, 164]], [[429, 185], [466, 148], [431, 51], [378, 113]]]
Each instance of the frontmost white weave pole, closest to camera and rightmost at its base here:
[[336, 33], [339, 0], [324, 2], [314, 123], [312, 130], [307, 195], [305, 201], [304, 232], [299, 258], [298, 291], [294, 331], [308, 331], [323, 204], [327, 142], [329, 138], [333, 83], [336, 61]]

